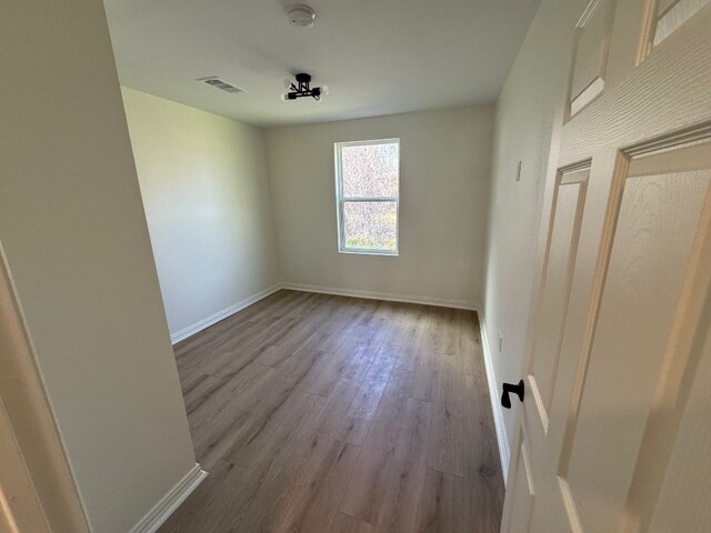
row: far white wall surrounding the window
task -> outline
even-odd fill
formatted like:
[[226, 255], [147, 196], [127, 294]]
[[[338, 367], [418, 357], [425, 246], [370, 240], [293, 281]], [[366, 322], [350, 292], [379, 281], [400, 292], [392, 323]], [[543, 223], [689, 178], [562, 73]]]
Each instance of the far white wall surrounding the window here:
[[[267, 130], [282, 278], [481, 301], [493, 105]], [[400, 255], [340, 254], [333, 143], [400, 138]]]

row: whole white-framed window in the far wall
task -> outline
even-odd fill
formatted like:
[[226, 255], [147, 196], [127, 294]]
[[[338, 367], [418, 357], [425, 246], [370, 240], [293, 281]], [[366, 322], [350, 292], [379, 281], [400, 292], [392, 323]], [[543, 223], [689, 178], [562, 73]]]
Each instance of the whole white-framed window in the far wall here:
[[336, 143], [338, 249], [398, 255], [400, 139]]

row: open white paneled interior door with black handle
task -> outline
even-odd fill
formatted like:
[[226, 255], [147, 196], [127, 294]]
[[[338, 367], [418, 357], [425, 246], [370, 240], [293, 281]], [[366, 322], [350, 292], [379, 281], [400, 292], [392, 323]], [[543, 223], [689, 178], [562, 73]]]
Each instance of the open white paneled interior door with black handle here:
[[710, 532], [711, 0], [575, 32], [502, 532]]

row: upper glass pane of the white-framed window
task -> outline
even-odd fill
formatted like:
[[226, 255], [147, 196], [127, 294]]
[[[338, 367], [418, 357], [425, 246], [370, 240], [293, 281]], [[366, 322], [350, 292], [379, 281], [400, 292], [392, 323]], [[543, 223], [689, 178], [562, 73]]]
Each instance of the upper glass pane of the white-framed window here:
[[341, 147], [344, 197], [397, 197], [397, 142]]

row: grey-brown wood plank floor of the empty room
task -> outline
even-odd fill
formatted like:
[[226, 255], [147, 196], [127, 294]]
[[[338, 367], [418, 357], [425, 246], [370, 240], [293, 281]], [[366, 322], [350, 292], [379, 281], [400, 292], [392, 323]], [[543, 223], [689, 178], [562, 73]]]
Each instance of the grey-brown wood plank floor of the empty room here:
[[499, 532], [474, 312], [280, 291], [176, 356], [210, 475], [161, 533]]

